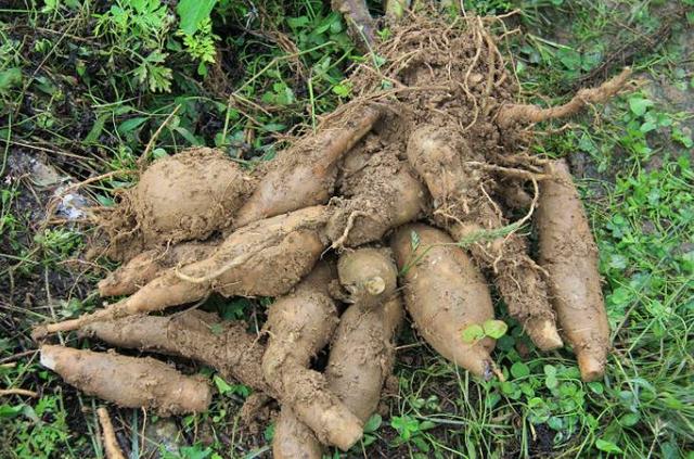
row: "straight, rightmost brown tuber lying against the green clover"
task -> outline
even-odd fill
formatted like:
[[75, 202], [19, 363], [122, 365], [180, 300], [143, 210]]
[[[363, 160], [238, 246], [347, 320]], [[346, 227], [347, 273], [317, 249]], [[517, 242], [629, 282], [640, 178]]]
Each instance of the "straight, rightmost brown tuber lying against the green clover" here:
[[568, 165], [547, 166], [537, 218], [540, 263], [551, 277], [550, 292], [564, 336], [574, 346], [583, 381], [603, 377], [609, 324], [597, 271], [597, 247]]

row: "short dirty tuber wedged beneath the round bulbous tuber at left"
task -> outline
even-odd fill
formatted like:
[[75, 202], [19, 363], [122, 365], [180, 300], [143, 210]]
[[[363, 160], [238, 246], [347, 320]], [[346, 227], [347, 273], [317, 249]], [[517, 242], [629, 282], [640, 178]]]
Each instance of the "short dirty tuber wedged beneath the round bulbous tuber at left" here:
[[170, 247], [145, 251], [99, 282], [101, 296], [130, 295], [165, 269], [207, 258], [219, 245], [217, 242], [181, 242]]

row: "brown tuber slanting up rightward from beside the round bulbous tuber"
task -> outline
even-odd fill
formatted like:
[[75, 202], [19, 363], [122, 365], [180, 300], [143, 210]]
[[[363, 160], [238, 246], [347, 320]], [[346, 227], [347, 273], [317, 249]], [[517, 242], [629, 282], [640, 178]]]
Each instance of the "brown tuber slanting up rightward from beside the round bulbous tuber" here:
[[335, 186], [337, 163], [380, 117], [381, 111], [375, 106], [358, 107], [356, 113], [339, 117], [339, 124], [306, 136], [281, 152], [239, 209], [233, 227], [326, 203]]

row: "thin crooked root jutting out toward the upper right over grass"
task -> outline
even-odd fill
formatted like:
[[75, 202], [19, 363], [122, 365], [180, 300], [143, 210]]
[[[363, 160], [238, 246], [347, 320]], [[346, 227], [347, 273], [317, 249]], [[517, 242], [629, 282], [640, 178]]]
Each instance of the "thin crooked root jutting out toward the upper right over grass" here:
[[497, 123], [505, 128], [514, 123], [540, 123], [570, 116], [589, 104], [605, 102], [615, 95], [627, 84], [631, 68], [626, 67], [619, 75], [596, 88], [581, 89], [570, 101], [558, 106], [542, 109], [532, 104], [504, 105], [499, 110]]

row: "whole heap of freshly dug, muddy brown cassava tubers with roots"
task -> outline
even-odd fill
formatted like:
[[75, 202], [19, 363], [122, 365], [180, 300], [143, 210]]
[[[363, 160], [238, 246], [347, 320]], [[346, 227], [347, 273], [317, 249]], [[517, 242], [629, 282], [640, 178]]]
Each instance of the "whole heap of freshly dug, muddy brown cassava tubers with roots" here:
[[[409, 15], [375, 42], [352, 101], [248, 170], [192, 149], [157, 160], [95, 214], [127, 295], [35, 329], [204, 362], [281, 405], [278, 458], [349, 449], [376, 410], [404, 311], [436, 352], [494, 378], [489, 284], [539, 349], [568, 344], [584, 381], [605, 369], [597, 251], [567, 164], [529, 153], [534, 124], [616, 94], [629, 71], [567, 104], [519, 103], [486, 20]], [[537, 260], [528, 227], [537, 233]], [[270, 296], [259, 333], [196, 308], [209, 294]], [[403, 309], [404, 307], [404, 309]], [[324, 371], [311, 359], [329, 346]], [[153, 358], [43, 344], [41, 362], [87, 394], [158, 413], [204, 411], [207, 381]]]

